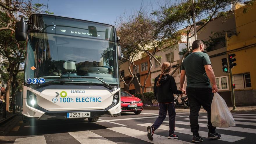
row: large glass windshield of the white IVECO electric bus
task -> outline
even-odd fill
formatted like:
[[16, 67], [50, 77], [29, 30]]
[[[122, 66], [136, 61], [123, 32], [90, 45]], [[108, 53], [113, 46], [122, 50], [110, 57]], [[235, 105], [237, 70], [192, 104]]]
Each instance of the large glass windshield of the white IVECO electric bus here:
[[32, 15], [29, 21], [43, 29], [28, 34], [25, 83], [27, 79], [47, 82], [62, 77], [102, 83], [83, 77], [88, 76], [119, 84], [113, 26], [40, 14]]

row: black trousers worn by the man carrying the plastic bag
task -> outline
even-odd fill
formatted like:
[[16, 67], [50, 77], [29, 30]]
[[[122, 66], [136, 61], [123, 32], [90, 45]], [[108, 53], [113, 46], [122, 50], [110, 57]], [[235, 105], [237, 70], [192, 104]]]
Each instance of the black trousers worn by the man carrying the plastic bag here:
[[208, 129], [214, 133], [216, 127], [211, 124], [211, 102], [214, 96], [212, 88], [186, 88], [186, 93], [190, 104], [190, 128], [193, 135], [199, 135], [198, 116], [201, 106], [207, 111]]

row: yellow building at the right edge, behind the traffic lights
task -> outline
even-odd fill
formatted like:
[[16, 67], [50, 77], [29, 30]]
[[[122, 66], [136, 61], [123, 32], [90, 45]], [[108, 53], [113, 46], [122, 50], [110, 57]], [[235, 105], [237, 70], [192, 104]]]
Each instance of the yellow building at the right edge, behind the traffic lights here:
[[236, 54], [232, 68], [235, 104], [256, 104], [256, 3], [234, 10], [237, 35], [227, 38], [227, 54]]

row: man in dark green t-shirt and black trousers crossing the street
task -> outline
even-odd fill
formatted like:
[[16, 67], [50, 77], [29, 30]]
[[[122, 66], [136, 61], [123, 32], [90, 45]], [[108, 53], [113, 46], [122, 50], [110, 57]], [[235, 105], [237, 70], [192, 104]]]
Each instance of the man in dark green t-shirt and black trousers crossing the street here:
[[[208, 138], [221, 138], [221, 135], [215, 131], [216, 127], [211, 124], [211, 102], [214, 93], [218, 92], [218, 87], [210, 58], [206, 53], [203, 53], [204, 48], [202, 40], [195, 40], [192, 43], [193, 52], [184, 59], [181, 67], [181, 90], [184, 90], [185, 75], [187, 77], [186, 93], [190, 104], [189, 120], [191, 132], [193, 133], [193, 142], [203, 141], [198, 133], [198, 113], [201, 106], [207, 111]], [[212, 87], [210, 81], [213, 84]]]

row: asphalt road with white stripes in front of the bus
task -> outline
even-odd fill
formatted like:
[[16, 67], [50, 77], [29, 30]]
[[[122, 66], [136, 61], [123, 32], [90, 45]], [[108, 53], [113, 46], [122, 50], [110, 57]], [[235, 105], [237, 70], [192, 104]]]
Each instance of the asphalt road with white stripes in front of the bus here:
[[[105, 117], [88, 123], [86, 120], [42, 121], [37, 125], [22, 122], [16, 116], [0, 126], [0, 143], [35, 144], [186, 144], [191, 143], [192, 133], [189, 125], [189, 112], [176, 111], [175, 134], [178, 139], [168, 139], [168, 117], [154, 133], [154, 141], [147, 139], [147, 126], [152, 125], [158, 116], [157, 110], [144, 110], [141, 114], [123, 113], [120, 117]], [[207, 114], [200, 113], [200, 144], [256, 144], [256, 112], [233, 113], [235, 127], [217, 128], [222, 134], [220, 140], [207, 137]]]

